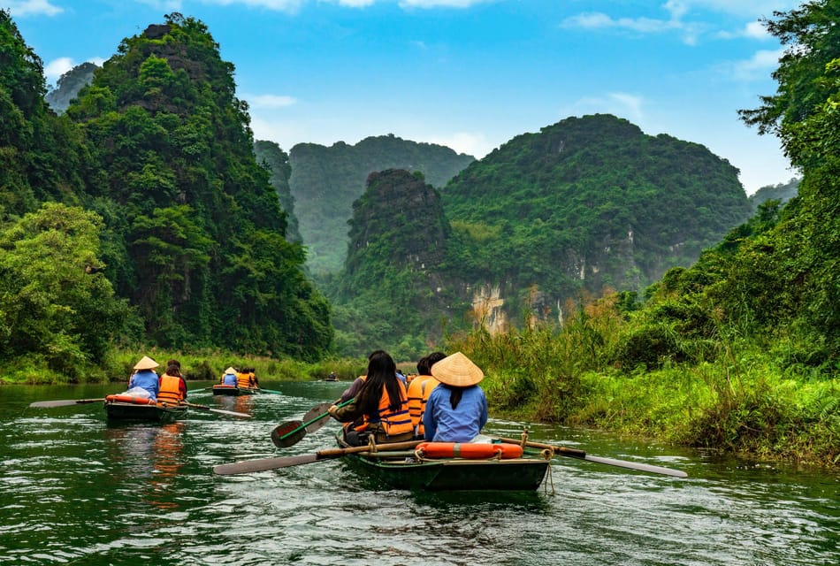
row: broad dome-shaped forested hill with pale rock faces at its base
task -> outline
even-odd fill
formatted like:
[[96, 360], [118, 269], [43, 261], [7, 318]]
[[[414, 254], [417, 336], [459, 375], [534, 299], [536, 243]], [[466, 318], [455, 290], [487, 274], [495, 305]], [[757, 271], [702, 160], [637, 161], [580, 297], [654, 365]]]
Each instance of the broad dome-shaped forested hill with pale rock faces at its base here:
[[538, 290], [555, 315], [581, 288], [641, 290], [692, 264], [751, 212], [725, 159], [611, 115], [516, 136], [442, 195], [462, 276], [514, 303]]

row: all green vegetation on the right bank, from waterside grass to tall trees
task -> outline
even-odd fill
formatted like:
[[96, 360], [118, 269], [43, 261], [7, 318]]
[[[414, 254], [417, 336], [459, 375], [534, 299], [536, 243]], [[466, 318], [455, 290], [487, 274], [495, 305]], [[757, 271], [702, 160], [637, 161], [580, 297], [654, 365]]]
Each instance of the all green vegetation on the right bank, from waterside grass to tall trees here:
[[840, 463], [840, 2], [765, 21], [778, 89], [741, 111], [783, 142], [798, 196], [691, 268], [569, 307], [562, 328], [454, 336], [497, 410], [759, 457]]

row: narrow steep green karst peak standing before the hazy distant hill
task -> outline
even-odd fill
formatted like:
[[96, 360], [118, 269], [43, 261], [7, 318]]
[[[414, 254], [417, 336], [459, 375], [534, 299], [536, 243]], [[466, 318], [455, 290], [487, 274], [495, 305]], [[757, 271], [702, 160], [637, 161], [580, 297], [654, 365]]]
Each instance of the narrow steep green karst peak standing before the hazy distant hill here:
[[370, 173], [349, 224], [347, 261], [328, 292], [337, 351], [359, 356], [376, 344], [417, 359], [466, 308], [439, 270], [450, 228], [438, 191], [421, 172]]

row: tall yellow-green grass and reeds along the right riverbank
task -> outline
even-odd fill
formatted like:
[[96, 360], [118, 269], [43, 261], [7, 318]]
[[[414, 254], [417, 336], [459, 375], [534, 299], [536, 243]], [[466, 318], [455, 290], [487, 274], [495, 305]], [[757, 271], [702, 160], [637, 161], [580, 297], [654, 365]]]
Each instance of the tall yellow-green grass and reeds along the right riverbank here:
[[491, 335], [478, 325], [450, 337], [449, 349], [485, 370], [488, 401], [504, 414], [755, 458], [838, 464], [836, 371], [785, 365], [766, 344], [731, 332], [714, 348], [673, 336], [678, 351], [703, 351], [691, 361], [666, 357], [650, 370], [621, 369], [615, 352], [638, 326], [614, 307], [610, 297], [592, 302], [562, 327], [531, 324]]

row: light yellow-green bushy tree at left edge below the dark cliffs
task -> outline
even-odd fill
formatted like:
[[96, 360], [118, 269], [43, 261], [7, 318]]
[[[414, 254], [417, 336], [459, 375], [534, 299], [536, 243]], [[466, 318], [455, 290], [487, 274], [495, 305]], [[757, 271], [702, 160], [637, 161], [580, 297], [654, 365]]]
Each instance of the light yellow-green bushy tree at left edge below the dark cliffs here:
[[97, 258], [102, 220], [46, 203], [0, 232], [0, 358], [78, 379], [130, 320]]

